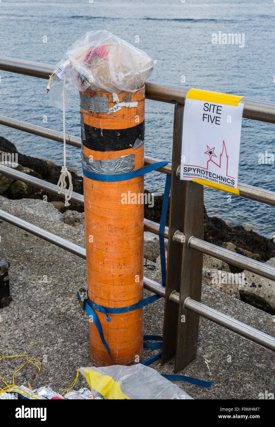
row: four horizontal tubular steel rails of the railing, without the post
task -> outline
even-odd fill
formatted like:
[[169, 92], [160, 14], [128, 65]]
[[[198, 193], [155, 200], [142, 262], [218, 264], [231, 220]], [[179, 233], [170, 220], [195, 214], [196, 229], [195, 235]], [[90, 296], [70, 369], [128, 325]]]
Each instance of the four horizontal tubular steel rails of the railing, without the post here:
[[[51, 74], [54, 70], [54, 67], [48, 64], [39, 64], [31, 61], [18, 60], [16, 58], [0, 57], [0, 69], [47, 79], [49, 77], [49, 74]], [[185, 97], [189, 90], [189, 88], [163, 85], [155, 82], [146, 82], [145, 85], [147, 98], [155, 99], [157, 101], [162, 102], [179, 103], [182, 105], [184, 105]], [[244, 103], [243, 117], [254, 120], [261, 120], [269, 123], [275, 123], [274, 102], [260, 101], [257, 99], [249, 99], [246, 97], [242, 99], [242, 102]], [[63, 135], [61, 134], [61, 132], [52, 131], [41, 126], [30, 125], [28, 123], [20, 122], [19, 120], [11, 119], [9, 117], [2, 116], [1, 120], [2, 122], [0, 123], [5, 124], [6, 126], [11, 126], [15, 129], [20, 129], [25, 132], [30, 132], [36, 135], [40, 135], [42, 137], [48, 137], [49, 139], [63, 142]], [[81, 139], [78, 137], [67, 135], [66, 143], [72, 146], [80, 147]], [[151, 164], [155, 162], [156, 160], [151, 158], [147, 158], [145, 160], [145, 164]], [[159, 171], [171, 174], [171, 165], [167, 165], [163, 168], [160, 168]], [[28, 182], [31, 185], [37, 186], [38, 188], [43, 188], [46, 191], [56, 194], [57, 190], [56, 188], [54, 190], [54, 184], [39, 180], [35, 177], [30, 177], [30, 175], [23, 174], [8, 167], [3, 167], [2, 165], [0, 165], [0, 172], [8, 176], [13, 176], [14, 179], [19, 179], [24, 182]], [[268, 203], [270, 205], [275, 205], [275, 194], [271, 191], [261, 190], [256, 187], [249, 186], [247, 184], [239, 184], [239, 186], [241, 196]], [[73, 193], [72, 200], [76, 203], [84, 204], [83, 196], [78, 193]], [[43, 230], [35, 225], [32, 225], [20, 218], [17, 218], [1, 210], [0, 219], [10, 222], [11, 224], [16, 225], [19, 228], [29, 231], [30, 233], [35, 234], [36, 236], [41, 237], [44, 240], [49, 241], [50, 243], [53, 243], [65, 250], [68, 250], [69, 252], [72, 252], [73, 254], [76, 254], [86, 259], [86, 251], [84, 248], [81, 248], [80, 246], [75, 245], [74, 243], [68, 242], [67, 240], [62, 239], [61, 237], [58, 237], [55, 234], [49, 233], [46, 230]], [[145, 223], [146, 222], [148, 231], [150, 230], [153, 233], [158, 234], [159, 225], [155, 222], [145, 219]], [[177, 233], [179, 233], [180, 235], [177, 236]], [[165, 237], [168, 237], [167, 227], [165, 228], [165, 234]], [[183, 243], [183, 240], [181, 239], [182, 233], [176, 232], [174, 236], [174, 241], [180, 241], [181, 243]], [[256, 274], [261, 274], [263, 277], [275, 280], [275, 269], [271, 266], [267, 266], [266, 264], [259, 263], [258, 261], [252, 260], [248, 257], [243, 257], [240, 254], [235, 254], [234, 252], [212, 245], [211, 243], [204, 242], [203, 240], [197, 239], [194, 236], [192, 236], [188, 240], [187, 245], [191, 249], [196, 249], [200, 252], [208, 253], [210, 255], [215, 255], [215, 257], [225, 260], [226, 262], [233, 263], [234, 265], [249, 269], [250, 271], [253, 271]], [[148, 278], [144, 278], [144, 287], [148, 290], [151, 290], [152, 292], [157, 293], [162, 297], [165, 296], [164, 288], [162, 288], [161, 285]], [[176, 291], [171, 292], [169, 300], [179, 304], [179, 293]], [[229, 330], [232, 330], [242, 336], [249, 338], [252, 341], [257, 342], [266, 348], [275, 351], [275, 338], [273, 338], [272, 336], [269, 336], [265, 333], [262, 333], [261, 331], [251, 328], [248, 325], [238, 322], [237, 320], [232, 319], [231, 317], [220, 313], [217, 310], [211, 309], [210, 307], [207, 307], [198, 301], [194, 301], [190, 297], [185, 299], [184, 307], [194, 313], [197, 313], [207, 319], [212, 320], [213, 322], [216, 322], [219, 325], [224, 326]]]

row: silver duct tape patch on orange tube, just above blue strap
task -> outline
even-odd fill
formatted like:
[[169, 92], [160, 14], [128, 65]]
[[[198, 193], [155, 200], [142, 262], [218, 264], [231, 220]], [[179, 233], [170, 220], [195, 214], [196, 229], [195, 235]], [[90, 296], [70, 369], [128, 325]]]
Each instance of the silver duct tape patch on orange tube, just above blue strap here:
[[135, 169], [135, 154], [129, 154], [116, 159], [91, 159], [81, 151], [82, 166], [89, 172], [99, 175], [120, 175]]

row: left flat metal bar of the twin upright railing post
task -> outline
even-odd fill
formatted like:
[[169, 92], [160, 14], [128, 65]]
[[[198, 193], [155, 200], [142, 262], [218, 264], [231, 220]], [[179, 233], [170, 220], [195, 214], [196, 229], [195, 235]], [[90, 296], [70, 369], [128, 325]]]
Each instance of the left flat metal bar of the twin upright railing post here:
[[187, 182], [177, 178], [177, 167], [180, 163], [182, 140], [183, 105], [176, 104], [174, 112], [174, 137], [171, 172], [171, 195], [169, 214], [168, 257], [165, 288], [165, 310], [162, 338], [162, 365], [174, 357], [177, 342], [177, 323], [179, 307], [169, 300], [172, 291], [179, 292], [183, 245], [173, 241], [175, 231], [184, 227], [184, 194]]

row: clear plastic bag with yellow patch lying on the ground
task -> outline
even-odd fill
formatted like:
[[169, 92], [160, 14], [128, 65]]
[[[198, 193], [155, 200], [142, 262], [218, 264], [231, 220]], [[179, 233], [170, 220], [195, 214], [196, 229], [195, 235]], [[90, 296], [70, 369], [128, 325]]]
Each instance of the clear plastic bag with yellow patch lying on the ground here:
[[192, 399], [155, 369], [141, 363], [80, 368], [79, 371], [86, 377], [92, 393], [104, 399]]

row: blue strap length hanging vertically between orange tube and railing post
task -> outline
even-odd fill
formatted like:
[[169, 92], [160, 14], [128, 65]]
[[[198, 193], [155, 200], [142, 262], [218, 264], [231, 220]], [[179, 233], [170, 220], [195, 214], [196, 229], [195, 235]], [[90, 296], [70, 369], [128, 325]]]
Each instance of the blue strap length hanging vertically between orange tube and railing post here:
[[165, 190], [163, 195], [162, 211], [161, 211], [160, 224], [159, 224], [160, 264], [161, 264], [162, 286], [164, 287], [166, 285], [166, 259], [165, 259], [164, 232], [165, 232], [165, 222], [166, 222], [167, 209], [168, 209], [168, 203], [169, 203], [170, 188], [171, 188], [171, 175], [166, 175]]

